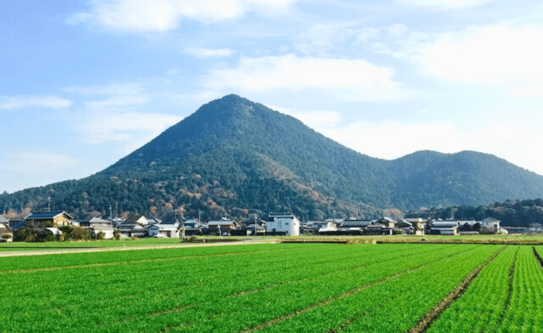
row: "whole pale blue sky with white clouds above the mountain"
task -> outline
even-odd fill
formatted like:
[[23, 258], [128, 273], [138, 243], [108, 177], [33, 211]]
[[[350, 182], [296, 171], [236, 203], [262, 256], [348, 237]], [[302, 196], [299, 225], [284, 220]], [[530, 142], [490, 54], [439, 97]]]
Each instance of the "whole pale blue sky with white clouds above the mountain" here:
[[0, 192], [79, 179], [229, 93], [358, 152], [543, 174], [536, 0], [3, 0]]

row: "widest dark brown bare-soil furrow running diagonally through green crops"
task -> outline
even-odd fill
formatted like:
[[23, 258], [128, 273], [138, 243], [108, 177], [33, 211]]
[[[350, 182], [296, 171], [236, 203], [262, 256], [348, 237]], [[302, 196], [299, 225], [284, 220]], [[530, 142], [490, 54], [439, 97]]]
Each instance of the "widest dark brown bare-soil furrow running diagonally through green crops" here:
[[502, 247], [501, 249], [497, 250], [496, 253], [491, 255], [485, 262], [481, 263], [476, 269], [474, 269], [470, 274], [468, 274], [467, 277], [464, 278], [460, 284], [456, 286], [447, 296], [442, 299], [436, 306], [433, 307], [430, 311], [426, 312], [424, 316], [422, 316], [421, 319], [419, 319], [419, 322], [413, 326], [413, 328], [409, 329], [406, 333], [422, 333], [425, 332], [432, 323], [435, 321], [435, 319], [439, 318], [441, 313], [447, 309], [454, 301], [456, 301], [462, 294], [468, 289], [469, 285], [471, 284], [471, 281], [477, 277], [477, 274], [481, 272], [481, 270], [486, 267], [491, 261], [493, 261], [498, 254], [500, 254], [506, 247]]

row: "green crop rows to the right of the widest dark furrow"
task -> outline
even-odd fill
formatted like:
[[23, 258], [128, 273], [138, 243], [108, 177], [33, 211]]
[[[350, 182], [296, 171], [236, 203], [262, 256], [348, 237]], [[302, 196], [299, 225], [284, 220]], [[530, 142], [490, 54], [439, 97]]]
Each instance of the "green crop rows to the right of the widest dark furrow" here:
[[541, 332], [543, 269], [534, 253], [542, 251], [507, 248], [428, 332]]

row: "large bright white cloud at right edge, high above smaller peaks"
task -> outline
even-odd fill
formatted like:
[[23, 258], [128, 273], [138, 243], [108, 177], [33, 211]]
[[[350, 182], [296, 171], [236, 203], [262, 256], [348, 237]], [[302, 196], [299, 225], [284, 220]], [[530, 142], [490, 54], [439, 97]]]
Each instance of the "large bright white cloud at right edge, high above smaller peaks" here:
[[543, 84], [543, 27], [476, 26], [407, 43], [408, 56], [439, 79], [468, 84]]

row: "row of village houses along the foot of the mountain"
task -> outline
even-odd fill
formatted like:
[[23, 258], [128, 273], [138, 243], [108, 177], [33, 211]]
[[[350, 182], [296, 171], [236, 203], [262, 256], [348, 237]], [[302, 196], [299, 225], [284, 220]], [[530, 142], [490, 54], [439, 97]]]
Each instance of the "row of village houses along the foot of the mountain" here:
[[[291, 213], [271, 213], [266, 219], [221, 218], [200, 222], [196, 219], [165, 222], [157, 218], [133, 215], [127, 218], [92, 217], [78, 221], [65, 211], [30, 213], [23, 219], [9, 220], [0, 216], [0, 241], [69, 240], [64, 230], [82, 230], [79, 239], [107, 240], [121, 237], [186, 238], [192, 236], [300, 236], [300, 235], [473, 235], [507, 234], [500, 221], [432, 221], [432, 219], [326, 219], [300, 222]], [[23, 237], [24, 236], [24, 237]]]

